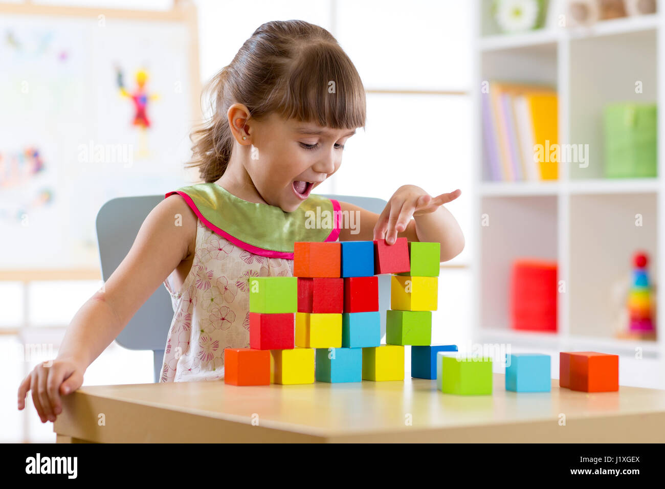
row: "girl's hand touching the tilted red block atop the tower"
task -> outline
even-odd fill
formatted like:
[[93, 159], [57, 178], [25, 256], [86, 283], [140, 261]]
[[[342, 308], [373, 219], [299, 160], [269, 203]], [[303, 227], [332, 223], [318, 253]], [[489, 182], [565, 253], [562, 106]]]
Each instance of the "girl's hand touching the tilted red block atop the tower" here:
[[374, 226], [374, 240], [386, 239], [386, 243], [393, 244], [397, 234], [406, 230], [412, 216], [422, 216], [434, 212], [440, 206], [455, 200], [462, 194], [459, 188], [448, 194], [436, 197], [415, 185], [402, 185], [388, 200], [388, 204], [376, 221]]

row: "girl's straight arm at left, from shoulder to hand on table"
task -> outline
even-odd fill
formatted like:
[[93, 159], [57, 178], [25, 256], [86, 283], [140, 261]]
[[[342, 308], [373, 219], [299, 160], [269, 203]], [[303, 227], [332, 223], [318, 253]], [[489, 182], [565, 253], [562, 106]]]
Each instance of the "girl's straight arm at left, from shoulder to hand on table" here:
[[[178, 216], [182, 216], [179, 221]], [[181, 224], [182, 223], [182, 224]], [[68, 325], [56, 359], [37, 365], [19, 387], [19, 409], [28, 391], [42, 422], [62, 412], [61, 395], [78, 389], [88, 365], [118, 336], [148, 297], [193, 252], [196, 214], [180, 196], [155, 206], [132, 248], [104, 287], [82, 305]], [[146, 325], [150, 327], [150, 325]]]

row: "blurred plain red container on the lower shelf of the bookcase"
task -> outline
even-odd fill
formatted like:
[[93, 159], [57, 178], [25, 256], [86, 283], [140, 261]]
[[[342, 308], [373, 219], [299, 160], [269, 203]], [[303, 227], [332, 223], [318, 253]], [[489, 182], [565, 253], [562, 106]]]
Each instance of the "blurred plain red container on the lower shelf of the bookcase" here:
[[510, 300], [513, 329], [557, 331], [557, 262], [516, 260]]

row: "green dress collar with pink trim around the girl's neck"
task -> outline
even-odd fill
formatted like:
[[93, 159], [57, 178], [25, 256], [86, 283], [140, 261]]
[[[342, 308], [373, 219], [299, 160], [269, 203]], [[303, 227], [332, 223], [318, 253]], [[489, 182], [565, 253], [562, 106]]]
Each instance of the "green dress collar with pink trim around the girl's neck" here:
[[168, 192], [178, 194], [211, 231], [261, 256], [293, 259], [295, 242], [329, 242], [339, 236], [340, 206], [311, 194], [293, 212], [247, 202], [215, 184], [196, 184]]

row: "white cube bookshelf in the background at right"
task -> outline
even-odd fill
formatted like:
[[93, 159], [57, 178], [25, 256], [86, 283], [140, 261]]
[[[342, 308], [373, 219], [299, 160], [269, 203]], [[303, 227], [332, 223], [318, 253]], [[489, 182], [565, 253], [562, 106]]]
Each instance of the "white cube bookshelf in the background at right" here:
[[[615, 336], [612, 283], [630, 273], [636, 249], [650, 255], [650, 277], [665, 277], [665, 156], [658, 154], [658, 177], [621, 180], [602, 178], [602, 107], [607, 102], [658, 102], [665, 79], [665, 15], [601, 21], [588, 28], [545, 27], [503, 35], [494, 30], [485, 0], [475, 5], [475, 81], [472, 90], [473, 216], [477, 216], [473, 248], [473, 340], [511, 343], [564, 351], [598, 350], [665, 361], [665, 328], [658, 341]], [[556, 13], [554, 7], [550, 15]], [[548, 24], [552, 24], [548, 22]], [[483, 81], [546, 83], [559, 96], [559, 143], [589, 144], [589, 166], [559, 164], [559, 180], [491, 182], [480, 106]], [[634, 92], [636, 81], [642, 93]], [[658, 140], [665, 140], [665, 121], [658, 112]], [[481, 216], [489, 226], [480, 226]], [[642, 214], [642, 226], [634, 225]], [[557, 333], [515, 331], [510, 327], [510, 266], [517, 257], [555, 259], [566, 292], [558, 297]], [[657, 288], [660, 309], [665, 287]], [[616, 305], [615, 305], [616, 304]], [[665, 317], [665, 314], [661, 314]], [[657, 319], [657, 318], [656, 318]]]

